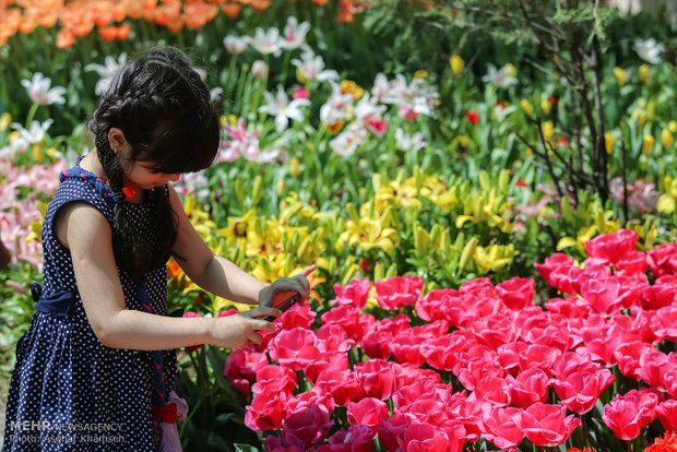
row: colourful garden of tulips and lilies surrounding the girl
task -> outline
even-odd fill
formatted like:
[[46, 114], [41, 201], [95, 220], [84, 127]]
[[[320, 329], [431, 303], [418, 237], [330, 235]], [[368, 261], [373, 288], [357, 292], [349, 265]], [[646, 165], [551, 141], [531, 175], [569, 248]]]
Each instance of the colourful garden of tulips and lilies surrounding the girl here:
[[[318, 266], [263, 343], [179, 352], [185, 450], [677, 451], [677, 9], [488, 3], [0, 2], [0, 401], [58, 175], [168, 44], [223, 104], [195, 229]], [[170, 311], [248, 309], [167, 266]]]

